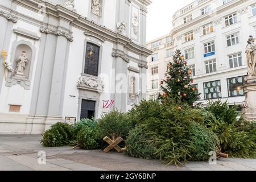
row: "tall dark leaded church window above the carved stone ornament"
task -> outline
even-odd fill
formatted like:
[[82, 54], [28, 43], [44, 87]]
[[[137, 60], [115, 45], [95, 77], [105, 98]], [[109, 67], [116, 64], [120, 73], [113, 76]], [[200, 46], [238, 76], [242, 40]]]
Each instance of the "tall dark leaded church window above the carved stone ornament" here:
[[98, 61], [100, 57], [100, 47], [92, 43], [86, 44], [84, 73], [98, 76]]

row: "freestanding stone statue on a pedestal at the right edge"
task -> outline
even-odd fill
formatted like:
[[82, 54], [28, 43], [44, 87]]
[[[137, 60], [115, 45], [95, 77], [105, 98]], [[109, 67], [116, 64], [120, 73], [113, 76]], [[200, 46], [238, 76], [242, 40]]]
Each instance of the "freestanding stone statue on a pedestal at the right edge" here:
[[255, 39], [253, 38], [253, 36], [250, 36], [250, 38], [247, 41], [248, 44], [246, 46], [246, 59], [249, 76], [256, 75], [256, 45], [254, 42]]

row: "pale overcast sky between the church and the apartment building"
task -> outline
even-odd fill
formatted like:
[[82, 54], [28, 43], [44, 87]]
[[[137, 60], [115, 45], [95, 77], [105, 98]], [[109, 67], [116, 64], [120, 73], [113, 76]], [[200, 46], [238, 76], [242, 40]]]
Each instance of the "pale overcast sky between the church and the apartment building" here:
[[147, 14], [147, 42], [170, 33], [172, 15], [195, 0], [151, 0]]

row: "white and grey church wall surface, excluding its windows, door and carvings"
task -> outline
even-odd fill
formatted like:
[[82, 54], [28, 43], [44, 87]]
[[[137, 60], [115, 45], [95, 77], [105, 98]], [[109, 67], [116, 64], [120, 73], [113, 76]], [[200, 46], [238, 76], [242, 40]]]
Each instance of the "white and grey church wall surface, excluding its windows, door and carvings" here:
[[[145, 64], [145, 55], [149, 52], [141, 51], [141, 46], [146, 46], [146, 34], [142, 34], [146, 32], [146, 9], [142, 12], [142, 1], [134, 0], [130, 3], [126, 0], [102, 0], [102, 12], [99, 17], [90, 12], [90, 0], [76, 0], [74, 11], [65, 10], [63, 5], [56, 6], [57, 3], [64, 2], [62, 0], [49, 0], [50, 3], [47, 4], [42, 1], [32, 8], [30, 6], [34, 4], [26, 4], [26, 1], [22, 2], [23, 6], [20, 6], [22, 3], [17, 5], [15, 2], [0, 2], [0, 13], [3, 10], [4, 13], [17, 18], [16, 22], [12, 22], [7, 20], [4, 14], [0, 14], [0, 22], [3, 25], [0, 32], [6, 36], [0, 38], [0, 48], [6, 49], [8, 59], [12, 63], [15, 61], [12, 57], [16, 43], [25, 42], [33, 49], [34, 54], [28, 57], [33, 64], [30, 66], [31, 72], [27, 80], [30, 82], [29, 86], [22, 85], [23, 82], [8, 82], [10, 73], [7, 82], [1, 75], [0, 134], [42, 134], [52, 124], [63, 122], [65, 117], [75, 117], [79, 120], [82, 99], [88, 98], [97, 102], [95, 117], [100, 118], [102, 113], [114, 107], [128, 111], [131, 104], [144, 98], [146, 76], [141, 73], [146, 73], [146, 68], [142, 68], [141, 64]], [[151, 2], [147, 0], [147, 3]], [[64, 13], [67, 19], [62, 17], [64, 15], [59, 17], [59, 14], [45, 16], [48, 13], [46, 5], [52, 8], [53, 14], [56, 9], [67, 11], [67, 14]], [[131, 23], [131, 15], [135, 11], [138, 15], [136, 36]], [[81, 22], [77, 20], [79, 18]], [[71, 25], [69, 20], [74, 19], [76, 25]], [[122, 20], [127, 22], [125, 36], [117, 34], [117, 23]], [[48, 30], [43, 32], [41, 28]], [[17, 33], [16, 30], [22, 33]], [[73, 39], [69, 39], [67, 35]], [[9, 39], [10, 41], [6, 41]], [[104, 91], [100, 93], [77, 88], [77, 81], [84, 71], [87, 42], [100, 46], [98, 78], [102, 78], [105, 84]], [[126, 63], [127, 60], [122, 56], [113, 57], [112, 52], [115, 51], [129, 59], [129, 63]], [[2, 65], [0, 68], [3, 68]], [[137, 78], [136, 92], [140, 95], [135, 100], [131, 101], [129, 98], [128, 80], [123, 82], [123, 94], [117, 94], [120, 78], [117, 73], [121, 73], [125, 78]], [[103, 109], [103, 101], [108, 100], [115, 100], [115, 104], [109, 109]], [[20, 105], [20, 111], [10, 112], [10, 105]]]

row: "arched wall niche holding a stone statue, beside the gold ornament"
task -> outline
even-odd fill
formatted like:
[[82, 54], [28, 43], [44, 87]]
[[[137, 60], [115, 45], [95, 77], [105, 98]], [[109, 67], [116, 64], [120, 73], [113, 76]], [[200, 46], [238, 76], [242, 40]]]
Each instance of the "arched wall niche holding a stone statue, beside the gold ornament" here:
[[[31, 85], [32, 68], [35, 61], [36, 48], [24, 40], [14, 42], [11, 50], [10, 62], [14, 72], [9, 72], [7, 76], [6, 86], [11, 87], [20, 84], [24, 89], [29, 90]], [[20, 59], [26, 59], [26, 63], [22, 63]], [[21, 65], [22, 64], [22, 65]], [[19, 68], [18, 68], [19, 67]], [[18, 69], [23, 67], [23, 74], [18, 72]], [[18, 68], [18, 69], [17, 69]]]

